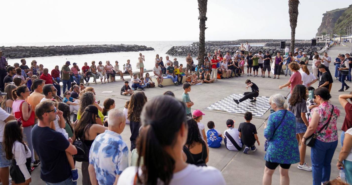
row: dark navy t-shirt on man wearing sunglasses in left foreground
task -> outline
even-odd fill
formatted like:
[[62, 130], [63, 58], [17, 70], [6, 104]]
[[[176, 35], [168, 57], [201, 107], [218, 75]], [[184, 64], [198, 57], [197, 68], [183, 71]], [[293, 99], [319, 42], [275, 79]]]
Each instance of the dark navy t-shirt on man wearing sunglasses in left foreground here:
[[70, 142], [63, 134], [49, 127], [35, 125], [32, 135], [33, 148], [42, 162], [40, 178], [49, 183], [68, 179], [71, 176], [71, 167], [65, 149], [70, 146]]

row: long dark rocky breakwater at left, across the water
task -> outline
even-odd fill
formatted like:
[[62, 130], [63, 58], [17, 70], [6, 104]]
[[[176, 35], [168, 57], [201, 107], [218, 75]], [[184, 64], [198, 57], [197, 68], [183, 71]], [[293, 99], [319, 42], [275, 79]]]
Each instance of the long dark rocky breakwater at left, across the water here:
[[0, 49], [7, 58], [48, 57], [59, 55], [82, 55], [91, 53], [108, 53], [122, 51], [151, 51], [152, 47], [139, 45], [78, 45], [78, 46], [16, 46]]

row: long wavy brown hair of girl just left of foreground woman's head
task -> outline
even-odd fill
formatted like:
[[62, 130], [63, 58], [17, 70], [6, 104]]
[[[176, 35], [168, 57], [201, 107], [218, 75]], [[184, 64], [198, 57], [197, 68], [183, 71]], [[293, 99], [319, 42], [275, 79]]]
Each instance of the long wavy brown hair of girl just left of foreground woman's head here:
[[128, 104], [127, 117], [130, 121], [139, 122], [140, 113], [144, 104], [147, 102], [147, 97], [144, 92], [136, 92], [131, 96], [130, 104]]

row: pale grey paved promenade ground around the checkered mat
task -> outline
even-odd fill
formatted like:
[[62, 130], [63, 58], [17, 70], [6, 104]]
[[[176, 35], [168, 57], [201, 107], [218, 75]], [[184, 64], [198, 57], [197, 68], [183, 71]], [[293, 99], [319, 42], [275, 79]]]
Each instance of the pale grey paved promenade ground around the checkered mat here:
[[[328, 54], [334, 60], [338, 53], [346, 53], [351, 51], [351, 44], [348, 44], [348, 47], [333, 47], [329, 49]], [[182, 62], [181, 62], [182, 63]], [[311, 63], [311, 62], [310, 62]], [[334, 75], [334, 65], [330, 65], [330, 71], [332, 75]], [[260, 75], [260, 74], [259, 74]], [[273, 75], [271, 75], [273, 76]], [[270, 96], [275, 93], [282, 94], [287, 96], [289, 93], [288, 89], [279, 90], [279, 85], [286, 83], [289, 77], [281, 76], [280, 79], [272, 79], [272, 78], [257, 78], [257, 77], [247, 77], [241, 76], [238, 78], [232, 79], [223, 79], [219, 80], [213, 84], [202, 84], [192, 86], [191, 92], [189, 93], [191, 100], [195, 103], [192, 107], [192, 111], [194, 109], [201, 109], [206, 115], [203, 116], [202, 123], [206, 123], [210, 120], [215, 122], [216, 129], [219, 129], [221, 133], [226, 129], [225, 122], [227, 119], [233, 119], [235, 121], [235, 127], [238, 127], [240, 122], [243, 122], [243, 114], [232, 114], [224, 111], [216, 111], [216, 110], [207, 110], [206, 108], [222, 98], [225, 98], [228, 95], [234, 93], [243, 93], [246, 91], [245, 80], [249, 78], [254, 83], [259, 86], [260, 96]], [[105, 98], [111, 97], [114, 98], [116, 103], [116, 108], [123, 109], [126, 100], [128, 100], [129, 96], [121, 96], [120, 89], [123, 85], [122, 81], [109, 83], [109, 84], [97, 84], [90, 85], [90, 87], [94, 87], [97, 100], [101, 100], [103, 102]], [[352, 84], [351, 84], [352, 85]], [[313, 84], [313, 87], [317, 88], [318, 82]], [[341, 87], [341, 83], [338, 80], [334, 80], [333, 88], [331, 91], [332, 95], [332, 103], [338, 106], [341, 110], [341, 115], [338, 120], [338, 128], [341, 128], [345, 111], [341, 108], [340, 103], [338, 102], [338, 96], [343, 94], [342, 92], [338, 92]], [[104, 90], [113, 90], [111, 94], [102, 94], [101, 92]], [[154, 98], [156, 96], [160, 96], [164, 91], [171, 90], [176, 95], [176, 98], [181, 99], [182, 97], [182, 86], [165, 86], [164, 88], [151, 88], [146, 89], [144, 92], [148, 99]], [[345, 92], [345, 93], [349, 93]], [[214, 166], [221, 170], [226, 183], [227, 184], [261, 184], [264, 172], [264, 135], [263, 135], [263, 121], [266, 121], [270, 111], [267, 111], [262, 117], [254, 117], [252, 123], [256, 125], [258, 129], [258, 137], [261, 145], [258, 147], [257, 151], [250, 154], [244, 154], [242, 151], [229, 151], [222, 143], [220, 148], [210, 148], [209, 149], [209, 162], [207, 165]], [[339, 134], [341, 130], [339, 130]], [[126, 141], [127, 146], [130, 146], [130, 128], [127, 125], [124, 132], [121, 134], [122, 138]], [[332, 160], [332, 170], [331, 170], [331, 179], [334, 179], [338, 175], [338, 170], [335, 167], [336, 160], [338, 158], [338, 154], [340, 152], [341, 145], [339, 145], [335, 151], [334, 158]], [[310, 162], [310, 149], [308, 147], [306, 153], [306, 162], [311, 165]], [[81, 167], [81, 164], [77, 162], [76, 166], [78, 168]], [[297, 164], [294, 164], [290, 168], [290, 180], [291, 184], [300, 184], [300, 185], [308, 185], [312, 184], [312, 172], [302, 171], [297, 169]], [[57, 174], [60, 175], [60, 174]], [[82, 184], [82, 178], [78, 180], [78, 184]], [[43, 181], [40, 180], [40, 169], [36, 168], [32, 173], [32, 184], [44, 184]], [[276, 170], [272, 184], [279, 184], [279, 172]]]

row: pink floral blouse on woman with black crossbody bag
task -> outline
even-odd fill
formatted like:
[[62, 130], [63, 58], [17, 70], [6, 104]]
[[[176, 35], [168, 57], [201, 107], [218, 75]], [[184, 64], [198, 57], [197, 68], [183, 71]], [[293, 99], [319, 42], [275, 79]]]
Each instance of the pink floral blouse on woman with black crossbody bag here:
[[[318, 113], [320, 116], [318, 127], [316, 128], [314, 133], [318, 133], [319, 130], [327, 123], [329, 117], [331, 115], [332, 106], [330, 102], [323, 102], [319, 105], [319, 107], [315, 107], [312, 109], [311, 114], [309, 115], [309, 123], [312, 120], [314, 112]], [[338, 140], [337, 134], [337, 119], [340, 116], [340, 110], [336, 106], [334, 106], [334, 112], [332, 114], [331, 120], [327, 129], [323, 129], [316, 137], [319, 141], [322, 142], [333, 142]]]

